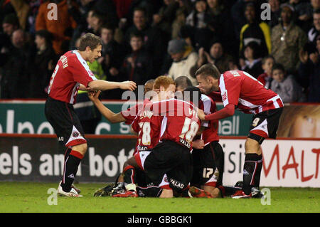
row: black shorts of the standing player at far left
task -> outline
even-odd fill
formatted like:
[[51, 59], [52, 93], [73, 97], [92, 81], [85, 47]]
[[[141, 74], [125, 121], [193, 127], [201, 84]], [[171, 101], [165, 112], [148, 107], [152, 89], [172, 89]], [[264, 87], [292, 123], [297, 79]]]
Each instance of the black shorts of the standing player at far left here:
[[79, 117], [70, 103], [48, 97], [45, 115], [57, 134], [58, 142], [63, 146], [72, 147], [87, 142]]

